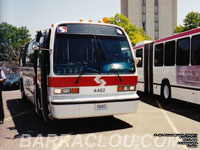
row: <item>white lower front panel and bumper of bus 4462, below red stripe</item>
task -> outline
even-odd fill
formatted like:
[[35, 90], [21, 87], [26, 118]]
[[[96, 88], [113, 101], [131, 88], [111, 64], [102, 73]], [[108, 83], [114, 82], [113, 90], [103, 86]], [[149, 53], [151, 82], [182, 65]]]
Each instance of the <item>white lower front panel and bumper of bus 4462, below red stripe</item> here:
[[[94, 89], [105, 88], [105, 93]], [[49, 88], [51, 115], [57, 119], [109, 116], [137, 111], [139, 96], [136, 91], [117, 92], [117, 86], [80, 87], [79, 94], [56, 95]], [[96, 105], [105, 104], [105, 109], [96, 110]]]

